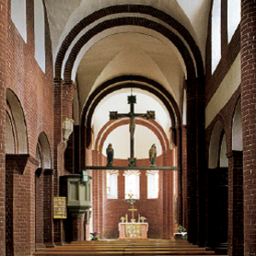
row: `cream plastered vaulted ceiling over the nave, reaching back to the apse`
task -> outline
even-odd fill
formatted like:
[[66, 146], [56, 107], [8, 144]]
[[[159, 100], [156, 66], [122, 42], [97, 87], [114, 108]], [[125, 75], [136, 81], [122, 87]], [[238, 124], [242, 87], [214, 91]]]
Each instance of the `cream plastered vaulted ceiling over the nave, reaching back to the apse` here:
[[[76, 124], [79, 124], [84, 105], [93, 92], [102, 84], [124, 76], [131, 76], [129, 83], [147, 85], [148, 88], [154, 86], [146, 80], [133, 81], [132, 78], [145, 78], [160, 84], [156, 90], [169, 93], [182, 116], [184, 79], [189, 75], [184, 56], [189, 55], [194, 66], [198, 67], [195, 48], [198, 49], [197, 55], [201, 55], [203, 66], [211, 0], [188, 2], [45, 0], [55, 78], [72, 79], [78, 85], [74, 102]], [[135, 9], [136, 5], [141, 6], [140, 11]], [[122, 9], [123, 6], [126, 9]], [[120, 83], [117, 80], [109, 86]], [[136, 111], [155, 110], [156, 121], [170, 138], [170, 128], [174, 124], [160, 98], [145, 90], [134, 89], [133, 92], [137, 95]], [[95, 140], [102, 126], [108, 122], [108, 111], [129, 111], [125, 99], [129, 94], [129, 89], [122, 89], [102, 97], [91, 119]], [[166, 100], [170, 101], [170, 97]], [[137, 157], [146, 158], [149, 145], [157, 142], [161, 148], [160, 142], [148, 128], [137, 126]], [[127, 158], [129, 144], [126, 141], [129, 138], [124, 135], [120, 138], [120, 134], [126, 132], [121, 129], [115, 129], [105, 143], [111, 141], [118, 148], [116, 151], [122, 152], [117, 153], [117, 157]], [[115, 139], [116, 143], [113, 142]], [[120, 140], [123, 143], [119, 143]], [[147, 143], [143, 143], [145, 141]]]

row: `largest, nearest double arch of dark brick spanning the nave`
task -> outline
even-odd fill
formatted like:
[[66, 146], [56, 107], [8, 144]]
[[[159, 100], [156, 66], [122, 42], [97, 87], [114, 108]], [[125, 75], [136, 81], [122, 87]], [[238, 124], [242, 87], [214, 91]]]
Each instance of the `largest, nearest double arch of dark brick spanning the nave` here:
[[[129, 13], [133, 13], [135, 15], [143, 14], [153, 16], [154, 18], [159, 19], [161, 22], [166, 23], [167, 26], [171, 26], [174, 30], [176, 30], [179, 33], [180, 38], [176, 35], [176, 33], [172, 32], [166, 26], [161, 25], [160, 22], [155, 22], [153, 20], [148, 20], [136, 16], [129, 17], [128, 15], [126, 15]], [[89, 41], [90, 38], [93, 38], [99, 32], [102, 32], [110, 27], [125, 25], [144, 26], [153, 29], [156, 32], [160, 32], [166, 38], [169, 38], [169, 40], [171, 40], [172, 43], [176, 45], [181, 55], [183, 55], [183, 60], [186, 63], [185, 65], [187, 68], [188, 78], [195, 78], [195, 67], [198, 77], [204, 76], [203, 61], [201, 58], [200, 49], [195, 43], [194, 38], [190, 35], [188, 30], [182, 24], [180, 24], [177, 20], [173, 19], [171, 15], [167, 15], [165, 12], [160, 11], [159, 9], [155, 9], [151, 6], [124, 4], [121, 6], [110, 6], [106, 9], [97, 10], [93, 14], [86, 16], [83, 20], [80, 20], [77, 26], [73, 27], [67, 37], [63, 40], [61, 48], [59, 49], [56, 56], [55, 79], [61, 79], [61, 67], [64, 63], [63, 60], [65, 58], [65, 55], [67, 54], [67, 49], [73, 43], [74, 38], [79, 35], [79, 32], [81, 32], [84, 27], [89, 26], [96, 20], [100, 20], [102, 17], [114, 14], [123, 14], [126, 15], [126, 17], [116, 18], [113, 20], [105, 20], [102, 23], [99, 23], [98, 25], [91, 28], [90, 32], [85, 33], [84, 36], [79, 39], [79, 42], [75, 44], [66, 62], [64, 79], [71, 79], [73, 62], [75, 61], [79, 50], [83, 47], [84, 44]], [[187, 49], [186, 45], [183, 44], [181, 38], [183, 38], [186, 44], [189, 45], [189, 49], [191, 50], [192, 55], [195, 58], [195, 64], [193, 58], [189, 53], [189, 49]]]

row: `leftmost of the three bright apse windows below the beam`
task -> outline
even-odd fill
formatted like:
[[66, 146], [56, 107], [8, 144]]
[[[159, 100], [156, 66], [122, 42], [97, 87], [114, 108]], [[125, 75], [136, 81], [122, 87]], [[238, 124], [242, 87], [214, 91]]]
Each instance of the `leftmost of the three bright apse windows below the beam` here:
[[118, 198], [118, 170], [108, 170], [106, 174], [106, 188], [107, 188], [107, 198], [117, 199]]

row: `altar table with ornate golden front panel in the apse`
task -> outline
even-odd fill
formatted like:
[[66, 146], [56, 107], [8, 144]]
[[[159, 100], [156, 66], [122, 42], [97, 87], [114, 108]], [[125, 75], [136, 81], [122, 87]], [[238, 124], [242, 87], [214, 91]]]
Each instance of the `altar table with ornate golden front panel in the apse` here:
[[119, 240], [148, 240], [148, 223], [119, 223]]

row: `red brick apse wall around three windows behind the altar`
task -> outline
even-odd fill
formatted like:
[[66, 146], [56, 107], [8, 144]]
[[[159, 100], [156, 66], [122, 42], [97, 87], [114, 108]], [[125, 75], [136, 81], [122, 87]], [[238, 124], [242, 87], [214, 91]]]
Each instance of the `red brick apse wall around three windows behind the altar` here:
[[[170, 166], [172, 161], [172, 151], [167, 152], [167, 156], [159, 156], [156, 159], [158, 166]], [[169, 155], [169, 156], [168, 156]], [[165, 160], [164, 160], [165, 158]], [[106, 163], [106, 157], [94, 152], [94, 164], [102, 159], [103, 165]], [[113, 160], [114, 166], [126, 166], [127, 160]], [[137, 160], [137, 166], [148, 166], [148, 159]], [[174, 225], [172, 218], [174, 215], [174, 195], [173, 195], [173, 172], [160, 171], [160, 196], [158, 199], [147, 199], [147, 176], [146, 171], [140, 171], [140, 200], [135, 204], [138, 210], [135, 212], [135, 218], [144, 216], [149, 224], [149, 238], [172, 238]], [[100, 237], [118, 238], [118, 224], [120, 217], [128, 214], [131, 218], [131, 212], [128, 212], [129, 205], [123, 201], [125, 199], [125, 176], [124, 171], [119, 171], [118, 176], [118, 199], [107, 199], [106, 194], [106, 174], [105, 171], [92, 171], [92, 197], [93, 197], [93, 226], [94, 230], [100, 232]], [[173, 203], [172, 203], [173, 202]]]

